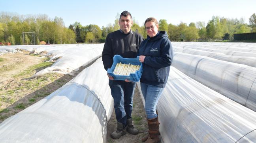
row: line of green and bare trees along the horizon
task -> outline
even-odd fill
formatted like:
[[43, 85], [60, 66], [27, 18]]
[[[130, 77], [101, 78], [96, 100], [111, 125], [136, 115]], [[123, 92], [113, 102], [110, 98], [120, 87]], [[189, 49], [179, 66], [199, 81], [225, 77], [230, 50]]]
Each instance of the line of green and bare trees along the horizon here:
[[[54, 19], [47, 15], [18, 15], [13, 13], [0, 13], [0, 42], [11, 42], [12, 45], [39, 44], [45, 41], [50, 44], [74, 44], [105, 42], [107, 34], [119, 29], [119, 14], [113, 24], [102, 26], [95, 24], [82, 26], [75, 22], [65, 27], [60, 17]], [[159, 20], [159, 30], [167, 31], [171, 41], [214, 41], [233, 40], [234, 33], [256, 32], [255, 13], [246, 24], [243, 18], [230, 19], [213, 16], [207, 24], [205, 22], [180, 22], [178, 25], [168, 24], [167, 20]], [[133, 21], [132, 31], [137, 31], [144, 38], [147, 33], [144, 26]], [[25, 33], [22, 32], [33, 32]], [[34, 40], [35, 39], [35, 40]]]

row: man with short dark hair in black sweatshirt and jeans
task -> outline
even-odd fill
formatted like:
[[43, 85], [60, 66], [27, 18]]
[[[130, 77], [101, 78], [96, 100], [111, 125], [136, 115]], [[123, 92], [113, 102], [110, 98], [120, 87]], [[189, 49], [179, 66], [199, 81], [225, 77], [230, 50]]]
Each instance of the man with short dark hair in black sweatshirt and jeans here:
[[[136, 58], [137, 50], [143, 38], [131, 30], [132, 15], [128, 11], [123, 11], [119, 18], [120, 29], [107, 35], [104, 49], [102, 51], [102, 61], [105, 70], [111, 68], [114, 55], [124, 58]], [[138, 134], [138, 130], [132, 125], [132, 98], [134, 95], [135, 82], [128, 80], [119, 81], [109, 76], [109, 87], [114, 99], [114, 108], [117, 118], [117, 130], [111, 134], [111, 138], [119, 139], [126, 134]]]

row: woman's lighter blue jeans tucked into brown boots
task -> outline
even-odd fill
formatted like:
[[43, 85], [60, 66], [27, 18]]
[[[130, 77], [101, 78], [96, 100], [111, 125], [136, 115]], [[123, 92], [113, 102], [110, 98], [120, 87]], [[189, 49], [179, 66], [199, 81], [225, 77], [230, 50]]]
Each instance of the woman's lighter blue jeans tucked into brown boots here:
[[158, 100], [164, 90], [164, 88], [140, 83], [141, 92], [145, 100], [145, 111], [148, 119], [154, 119], [157, 117], [156, 114], [156, 105]]

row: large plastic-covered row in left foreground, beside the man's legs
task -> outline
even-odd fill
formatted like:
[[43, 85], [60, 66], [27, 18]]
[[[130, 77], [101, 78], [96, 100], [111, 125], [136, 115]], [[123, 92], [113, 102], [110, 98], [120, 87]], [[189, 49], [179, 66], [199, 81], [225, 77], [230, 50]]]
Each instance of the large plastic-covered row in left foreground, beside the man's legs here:
[[113, 98], [101, 59], [52, 94], [0, 124], [0, 141], [104, 143]]

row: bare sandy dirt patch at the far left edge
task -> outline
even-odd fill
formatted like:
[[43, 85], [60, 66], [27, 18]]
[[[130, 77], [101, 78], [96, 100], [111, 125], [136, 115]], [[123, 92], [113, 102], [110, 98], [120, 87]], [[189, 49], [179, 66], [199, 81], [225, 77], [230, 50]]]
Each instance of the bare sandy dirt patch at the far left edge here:
[[0, 62], [0, 83], [42, 61], [40, 57], [28, 55], [28, 52], [5, 54], [1, 58], [4, 61]]

